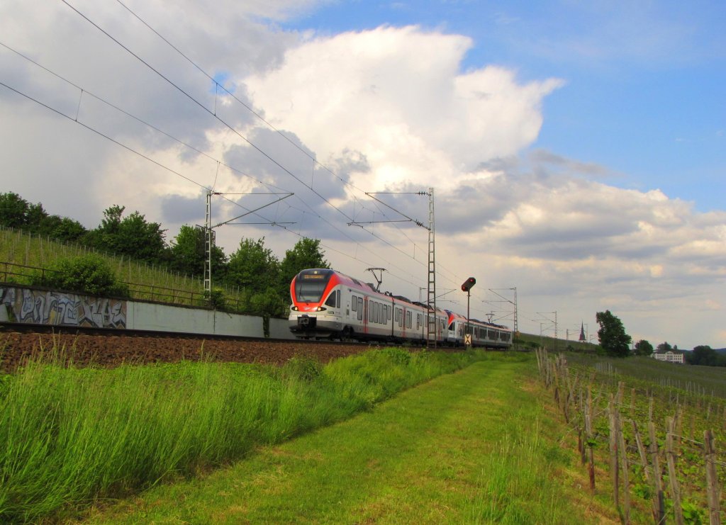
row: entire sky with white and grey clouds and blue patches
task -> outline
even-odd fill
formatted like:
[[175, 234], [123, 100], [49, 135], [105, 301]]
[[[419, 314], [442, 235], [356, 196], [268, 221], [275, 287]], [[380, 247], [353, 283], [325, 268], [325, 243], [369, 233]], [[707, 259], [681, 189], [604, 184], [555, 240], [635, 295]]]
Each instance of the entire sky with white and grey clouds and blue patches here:
[[428, 232], [380, 221], [428, 224], [433, 188], [440, 306], [474, 276], [472, 317], [512, 326], [516, 288], [521, 331], [611, 310], [726, 347], [724, 27], [717, 0], [3, 0], [0, 189], [169, 241], [209, 189], [213, 223], [270, 204], [227, 254], [310, 236], [418, 299]]

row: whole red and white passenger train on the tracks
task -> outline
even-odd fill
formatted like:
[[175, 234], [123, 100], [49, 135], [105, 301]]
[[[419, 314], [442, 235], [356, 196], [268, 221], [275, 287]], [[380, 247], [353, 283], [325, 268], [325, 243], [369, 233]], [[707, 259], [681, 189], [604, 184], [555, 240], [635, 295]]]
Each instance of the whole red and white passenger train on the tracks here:
[[[290, 283], [290, 331], [301, 338], [357, 339], [359, 341], [425, 344], [430, 310], [406, 297], [376, 292], [371, 284], [335, 270], [302, 270]], [[467, 320], [436, 308], [436, 342], [465, 343]], [[472, 344], [507, 349], [512, 331], [506, 326], [469, 321]]]

